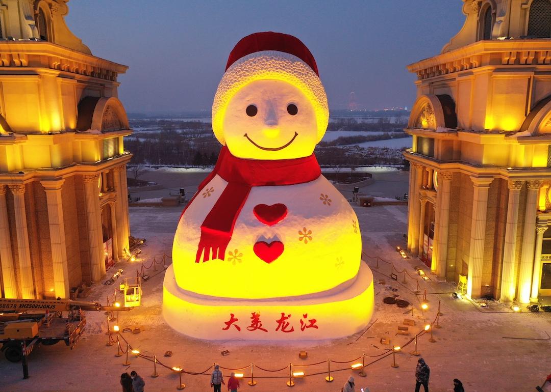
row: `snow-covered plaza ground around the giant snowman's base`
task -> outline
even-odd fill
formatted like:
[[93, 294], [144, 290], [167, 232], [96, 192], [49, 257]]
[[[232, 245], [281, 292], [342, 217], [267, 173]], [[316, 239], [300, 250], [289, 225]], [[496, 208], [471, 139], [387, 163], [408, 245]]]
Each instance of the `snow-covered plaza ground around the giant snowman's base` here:
[[[179, 174], [182, 175], [182, 174]], [[191, 174], [187, 174], [191, 175]], [[398, 174], [393, 179], [399, 178]], [[406, 177], [404, 175], [404, 177]], [[377, 177], [381, 197], [392, 197], [395, 185], [390, 186], [381, 177]], [[407, 177], [406, 177], [407, 178]], [[375, 185], [376, 185], [375, 184]], [[407, 182], [403, 183], [407, 189]], [[403, 184], [401, 187], [403, 187]], [[374, 189], [375, 185], [370, 186]], [[375, 192], [371, 192], [375, 194]], [[403, 191], [402, 191], [403, 194]], [[344, 192], [347, 196], [348, 193]], [[414, 267], [423, 264], [415, 260], [402, 260], [394, 250], [396, 245], [403, 246], [402, 234], [406, 231], [406, 206], [382, 206], [361, 208], [354, 207], [358, 216], [362, 234], [364, 251], [370, 255], [379, 255], [387, 261], [395, 263], [397, 269], [407, 268], [414, 276]], [[132, 234], [147, 238], [147, 246], [143, 247], [141, 257], [133, 263], [121, 262], [112, 270], [123, 268], [123, 277], [136, 275], [136, 268], [141, 262], [149, 265], [152, 257], [157, 260], [164, 252], [170, 254], [172, 239], [176, 229], [181, 207], [131, 207], [130, 219]], [[398, 281], [391, 280], [385, 275], [390, 274], [390, 267], [380, 262], [379, 269], [375, 268], [375, 259], [368, 261], [375, 278], [375, 314], [372, 321], [375, 323], [365, 332], [334, 341], [318, 341], [306, 344], [255, 344], [233, 339], [229, 341], [205, 342], [186, 338], [174, 332], [164, 322], [161, 314], [163, 297], [164, 271], [147, 273], [152, 276], [143, 285], [142, 306], [120, 316], [120, 325], [143, 325], [145, 330], [139, 334], [124, 333], [133, 347], [144, 355], [157, 354], [159, 360], [168, 366], [182, 366], [186, 371], [202, 372], [213, 362], [223, 367], [238, 368], [249, 366], [251, 362], [265, 369], [278, 369], [297, 365], [296, 370], [302, 370], [307, 375], [327, 371], [326, 361], [331, 358], [336, 361], [353, 360], [361, 354], [370, 356], [383, 354], [392, 345], [404, 345], [409, 336], [396, 335], [398, 325], [402, 325], [404, 309], [394, 305], [384, 305], [382, 299], [388, 295], [398, 294], [403, 299], [415, 305], [415, 331], [422, 328], [419, 298], [410, 291], [415, 290], [415, 281], [407, 277], [407, 283], [401, 284], [403, 273]], [[110, 270], [110, 272], [112, 271]], [[429, 273], [429, 270], [425, 268]], [[385, 275], [383, 275], [385, 274]], [[434, 275], [429, 273], [434, 279]], [[385, 279], [385, 284], [378, 283]], [[121, 281], [117, 280], [117, 284]], [[400, 282], [400, 283], [399, 283]], [[229, 281], [213, 281], [213, 285], [229, 285]], [[431, 292], [449, 292], [455, 288], [453, 283], [439, 283], [421, 281], [420, 287]], [[394, 292], [386, 288], [387, 285], [398, 289]], [[95, 285], [87, 300], [105, 303], [107, 295], [112, 295], [115, 286]], [[418, 350], [430, 366], [430, 388], [433, 391], [452, 391], [453, 378], [462, 380], [465, 390], [469, 392], [485, 391], [530, 391], [536, 385], [541, 385], [544, 378], [551, 372], [549, 340], [517, 340], [504, 339], [504, 336], [519, 338], [547, 339], [551, 332], [551, 313], [512, 313], [505, 306], [491, 304], [488, 310], [480, 310], [467, 301], [455, 301], [450, 294], [429, 294], [429, 311], [427, 316], [434, 318], [435, 308], [439, 299], [442, 300], [440, 318], [441, 329], [434, 330], [436, 343], [429, 343], [430, 336], [419, 338]], [[343, 315], [342, 317], [346, 317]], [[179, 380], [177, 374], [158, 366], [160, 377], [152, 378], [153, 364], [143, 358], [131, 355], [131, 366], [123, 366], [125, 357], [115, 357], [116, 345], [107, 347], [105, 314], [103, 312], [87, 312], [87, 331], [77, 346], [71, 351], [62, 343], [54, 346], [43, 346], [36, 349], [29, 357], [28, 380], [22, 379], [20, 363], [11, 363], [0, 357], [0, 390], [6, 391], [44, 391], [44, 390], [120, 390], [120, 374], [136, 370], [145, 380], [145, 389], [152, 391], [175, 390]], [[221, 331], [222, 332], [222, 331]], [[223, 335], [220, 334], [223, 338]], [[358, 339], [359, 338], [359, 339]], [[380, 338], [389, 338], [391, 345], [383, 345]], [[357, 341], [356, 341], [357, 339]], [[166, 350], [173, 352], [172, 357], [163, 356]], [[228, 356], [220, 352], [229, 350]], [[298, 352], [305, 350], [308, 358], [298, 358]], [[332, 363], [332, 383], [325, 381], [326, 374], [295, 379], [295, 391], [340, 391], [349, 376], [356, 380], [356, 391], [359, 388], [369, 387], [371, 392], [413, 390], [415, 385], [415, 364], [418, 357], [410, 355], [413, 344], [405, 347], [396, 354], [398, 368], [392, 368], [392, 355], [373, 363], [366, 368], [367, 377], [361, 378], [357, 371], [349, 369], [348, 364]], [[376, 360], [375, 357], [366, 357], [366, 363]], [[301, 364], [324, 362], [312, 367], [300, 367]], [[338, 369], [346, 368], [343, 371]], [[208, 371], [207, 373], [210, 373]], [[225, 376], [230, 371], [224, 370]], [[245, 376], [250, 372], [245, 370]], [[262, 378], [279, 376], [283, 378]], [[255, 379], [258, 384], [249, 387], [242, 382], [240, 390], [258, 392], [273, 392], [288, 390], [285, 382], [288, 379], [288, 369], [278, 373], [266, 373], [255, 369]], [[183, 374], [182, 381], [189, 391], [209, 391], [209, 376]], [[226, 379], [227, 381], [227, 379]], [[245, 380], [246, 381], [246, 380]], [[225, 387], [224, 387], [225, 388]], [[225, 390], [225, 389], [224, 389]]]

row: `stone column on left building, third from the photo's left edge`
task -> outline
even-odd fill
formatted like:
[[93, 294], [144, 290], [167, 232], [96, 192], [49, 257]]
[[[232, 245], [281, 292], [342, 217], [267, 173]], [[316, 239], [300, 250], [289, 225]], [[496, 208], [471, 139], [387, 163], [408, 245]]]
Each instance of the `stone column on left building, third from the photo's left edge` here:
[[40, 181], [46, 191], [48, 223], [50, 224], [50, 244], [52, 247], [53, 287], [56, 298], [69, 298], [69, 269], [67, 267], [67, 246], [61, 187], [64, 179]]

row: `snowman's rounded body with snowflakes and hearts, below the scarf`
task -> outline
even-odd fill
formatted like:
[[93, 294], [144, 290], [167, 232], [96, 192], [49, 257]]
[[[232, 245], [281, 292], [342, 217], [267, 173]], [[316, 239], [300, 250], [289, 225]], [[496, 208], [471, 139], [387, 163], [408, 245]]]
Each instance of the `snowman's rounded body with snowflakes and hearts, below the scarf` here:
[[[315, 294], [355, 278], [361, 257], [358, 219], [341, 192], [322, 175], [304, 184], [253, 186], [237, 217], [225, 260], [196, 263], [201, 224], [226, 185], [214, 176], [180, 219], [172, 257], [182, 289], [214, 297], [267, 299]], [[287, 213], [268, 225], [257, 218], [263, 212], [257, 207], [261, 205], [265, 209], [283, 205]], [[264, 253], [277, 255], [279, 250], [257, 246], [255, 253], [255, 244], [274, 241], [283, 244], [283, 251], [276, 260], [262, 260], [267, 257]]]

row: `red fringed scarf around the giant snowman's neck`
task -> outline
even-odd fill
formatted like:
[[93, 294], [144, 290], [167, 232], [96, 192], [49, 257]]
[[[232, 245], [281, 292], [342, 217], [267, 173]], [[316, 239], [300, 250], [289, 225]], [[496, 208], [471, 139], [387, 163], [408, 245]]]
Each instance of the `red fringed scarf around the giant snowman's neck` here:
[[195, 258], [196, 263], [199, 262], [202, 254], [203, 262], [215, 258], [224, 260], [235, 222], [241, 208], [245, 205], [251, 187], [308, 183], [321, 175], [321, 169], [314, 154], [304, 158], [257, 161], [236, 158], [230, 153], [228, 147], [224, 146], [220, 150], [214, 170], [199, 185], [197, 193], [183, 209], [182, 216], [197, 195], [217, 174], [227, 181], [228, 185], [201, 225], [201, 240], [199, 240]]

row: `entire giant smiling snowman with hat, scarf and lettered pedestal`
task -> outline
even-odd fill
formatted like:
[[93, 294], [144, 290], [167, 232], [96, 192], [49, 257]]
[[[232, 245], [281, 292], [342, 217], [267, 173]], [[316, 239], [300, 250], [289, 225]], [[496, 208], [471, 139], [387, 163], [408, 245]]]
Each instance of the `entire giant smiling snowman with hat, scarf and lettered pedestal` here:
[[212, 108], [224, 146], [184, 209], [163, 314], [201, 339], [339, 338], [373, 312], [358, 219], [321, 175], [328, 122], [309, 49], [260, 32], [231, 51]]

